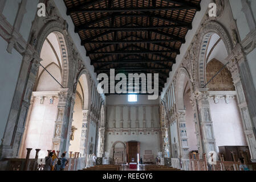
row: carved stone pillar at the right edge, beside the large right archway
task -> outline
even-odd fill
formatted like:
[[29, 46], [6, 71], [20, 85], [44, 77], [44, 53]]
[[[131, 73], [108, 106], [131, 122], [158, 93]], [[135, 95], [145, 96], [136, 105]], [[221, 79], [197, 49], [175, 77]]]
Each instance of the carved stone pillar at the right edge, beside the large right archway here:
[[255, 88], [241, 46], [237, 44], [233, 52], [233, 55], [230, 55], [228, 58], [229, 64], [227, 67], [232, 74], [237, 91], [237, 102], [241, 113], [243, 131], [250, 150], [251, 161], [256, 162], [256, 139], [254, 132], [256, 125]]

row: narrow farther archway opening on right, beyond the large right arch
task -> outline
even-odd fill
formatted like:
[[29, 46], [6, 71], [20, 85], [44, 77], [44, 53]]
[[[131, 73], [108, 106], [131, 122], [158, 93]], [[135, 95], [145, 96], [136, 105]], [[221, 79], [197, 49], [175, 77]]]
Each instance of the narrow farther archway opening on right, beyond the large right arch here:
[[185, 68], [180, 68], [177, 77], [176, 106], [178, 113], [178, 138], [180, 157], [189, 158], [192, 152], [198, 152], [199, 138], [197, 119], [191, 104], [192, 84]]

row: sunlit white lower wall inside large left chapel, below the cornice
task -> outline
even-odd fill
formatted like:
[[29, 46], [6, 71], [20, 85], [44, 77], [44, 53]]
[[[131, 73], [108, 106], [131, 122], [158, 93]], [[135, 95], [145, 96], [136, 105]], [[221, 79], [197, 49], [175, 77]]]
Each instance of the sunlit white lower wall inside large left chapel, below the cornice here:
[[52, 138], [54, 137], [55, 119], [58, 111], [58, 100], [50, 104], [50, 100], [44, 100], [40, 104], [40, 99], [35, 98], [34, 104], [31, 105], [31, 115], [27, 128], [22, 158], [26, 158], [26, 148], [33, 148], [30, 158], [35, 158], [35, 149], [40, 148], [39, 158], [45, 158], [52, 149]]

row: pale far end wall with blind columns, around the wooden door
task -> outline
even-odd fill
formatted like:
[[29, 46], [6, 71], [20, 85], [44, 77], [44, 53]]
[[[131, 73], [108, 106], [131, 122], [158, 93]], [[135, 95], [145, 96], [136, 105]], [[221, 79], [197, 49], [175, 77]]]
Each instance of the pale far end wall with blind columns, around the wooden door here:
[[[143, 128], [143, 107], [146, 108], [146, 129], [151, 127], [151, 120], [154, 122], [154, 128], [160, 127], [160, 113], [159, 113], [159, 101], [158, 100], [148, 100], [148, 96], [138, 95], [137, 102], [128, 102], [128, 95], [112, 95], [107, 97], [107, 128], [113, 127], [113, 120], [116, 120], [116, 128], [120, 128], [121, 121], [121, 109], [123, 108], [123, 128], [128, 128], [128, 107], [131, 107], [131, 135], [128, 135], [127, 131], [120, 133], [116, 131], [112, 133], [107, 132], [106, 142], [107, 142], [107, 152], [111, 154], [111, 147], [113, 143], [117, 141], [129, 142], [137, 141], [140, 142], [140, 155], [145, 154], [145, 150], [152, 150], [153, 155], [156, 157], [157, 152], [160, 151], [160, 139], [159, 132], [148, 131], [146, 134], [144, 132], [136, 133], [132, 129], [136, 130], [136, 110], [139, 109], [139, 128]], [[116, 115], [114, 115], [114, 109], [116, 108]], [[153, 108], [153, 118], [151, 118], [151, 108]], [[109, 134], [111, 133], [111, 134]], [[118, 135], [117, 135], [118, 133]], [[134, 133], [134, 134], [133, 134]]]

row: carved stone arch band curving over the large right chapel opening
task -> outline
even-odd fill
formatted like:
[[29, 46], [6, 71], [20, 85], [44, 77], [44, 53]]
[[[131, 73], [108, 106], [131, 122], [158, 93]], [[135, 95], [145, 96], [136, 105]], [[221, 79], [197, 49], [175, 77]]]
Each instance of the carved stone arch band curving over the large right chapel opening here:
[[197, 64], [195, 64], [196, 68], [194, 68], [194, 70], [198, 70], [198, 88], [203, 88], [206, 84], [206, 52], [210, 37], [213, 34], [217, 34], [223, 40], [228, 55], [231, 54], [233, 49], [230, 35], [220, 23], [208, 22], [205, 24], [204, 29], [201, 31], [201, 36], [198, 38], [198, 40], [200, 40], [197, 45], [199, 50], [196, 60], [198, 61]]

